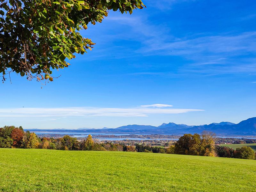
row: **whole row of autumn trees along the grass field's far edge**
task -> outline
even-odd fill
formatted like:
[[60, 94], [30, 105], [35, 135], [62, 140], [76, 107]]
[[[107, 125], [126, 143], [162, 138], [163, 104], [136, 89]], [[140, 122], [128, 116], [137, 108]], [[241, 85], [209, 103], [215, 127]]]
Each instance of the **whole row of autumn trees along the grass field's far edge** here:
[[229, 158], [256, 159], [252, 148], [243, 146], [236, 150], [224, 146], [215, 145], [214, 133], [203, 132], [202, 135], [195, 133], [184, 134], [168, 148], [152, 147], [136, 144], [135, 146], [113, 143], [97, 143], [88, 135], [85, 140], [68, 135], [62, 138], [39, 138], [34, 132], [26, 131], [15, 126], [0, 128], [0, 148], [42, 148], [57, 150], [95, 150], [95, 151], [131, 151], [148, 153], [168, 153], [196, 156], [219, 156]]

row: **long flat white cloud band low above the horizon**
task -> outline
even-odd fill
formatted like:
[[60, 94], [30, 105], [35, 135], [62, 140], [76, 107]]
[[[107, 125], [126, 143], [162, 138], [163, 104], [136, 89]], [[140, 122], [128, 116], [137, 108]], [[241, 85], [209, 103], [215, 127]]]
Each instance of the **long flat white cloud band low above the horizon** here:
[[0, 118], [68, 118], [68, 117], [146, 117], [152, 114], [179, 114], [202, 109], [163, 108], [172, 105], [148, 105], [156, 108], [96, 108], [96, 107], [67, 107], [67, 108], [1, 108]]

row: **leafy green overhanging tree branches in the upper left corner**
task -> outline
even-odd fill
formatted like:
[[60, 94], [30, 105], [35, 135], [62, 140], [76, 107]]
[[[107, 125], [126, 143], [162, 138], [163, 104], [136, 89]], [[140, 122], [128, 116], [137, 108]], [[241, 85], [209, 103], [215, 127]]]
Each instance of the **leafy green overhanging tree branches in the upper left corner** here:
[[0, 0], [0, 73], [53, 80], [54, 69], [94, 43], [79, 30], [101, 22], [108, 10], [142, 9], [141, 0]]

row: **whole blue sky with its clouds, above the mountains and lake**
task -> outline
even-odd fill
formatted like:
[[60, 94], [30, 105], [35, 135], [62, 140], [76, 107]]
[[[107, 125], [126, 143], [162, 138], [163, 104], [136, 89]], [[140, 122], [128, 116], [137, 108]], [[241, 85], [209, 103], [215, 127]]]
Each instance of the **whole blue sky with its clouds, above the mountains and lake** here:
[[144, 3], [81, 31], [93, 50], [42, 89], [12, 74], [12, 84], [0, 85], [0, 126], [199, 125], [256, 116], [256, 2]]

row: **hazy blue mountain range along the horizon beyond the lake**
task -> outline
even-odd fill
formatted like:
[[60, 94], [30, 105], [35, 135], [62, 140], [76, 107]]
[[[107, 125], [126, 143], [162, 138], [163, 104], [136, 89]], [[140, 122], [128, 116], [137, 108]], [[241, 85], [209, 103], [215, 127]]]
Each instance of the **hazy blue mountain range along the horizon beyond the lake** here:
[[256, 117], [249, 118], [241, 121], [238, 124], [230, 122], [212, 123], [209, 125], [186, 125], [175, 123], [163, 123], [159, 126], [151, 125], [125, 125], [117, 128], [102, 128], [102, 129], [89, 129], [79, 128], [76, 130], [70, 129], [51, 129], [51, 130], [39, 130], [30, 129], [29, 131], [35, 132], [84, 132], [84, 133], [129, 133], [129, 134], [175, 134], [183, 135], [185, 133], [201, 133], [203, 131], [215, 132], [217, 135], [222, 136], [244, 136], [244, 135], [256, 135]]

